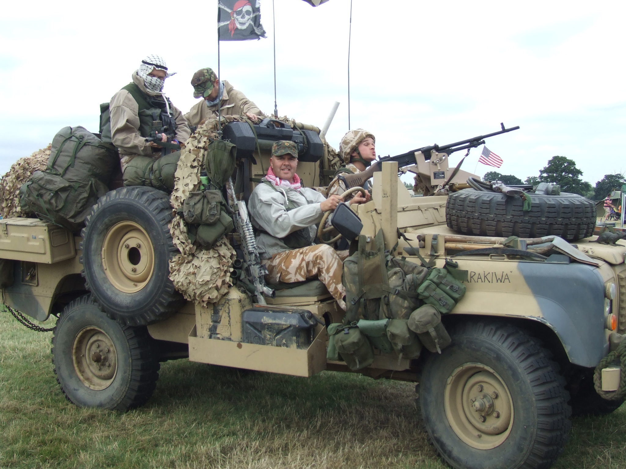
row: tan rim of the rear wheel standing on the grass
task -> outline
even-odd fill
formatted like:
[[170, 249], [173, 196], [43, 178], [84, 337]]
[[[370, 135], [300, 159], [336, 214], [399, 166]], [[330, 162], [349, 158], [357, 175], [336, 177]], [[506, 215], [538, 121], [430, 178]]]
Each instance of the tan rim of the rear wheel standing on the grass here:
[[117, 373], [117, 351], [111, 338], [96, 327], [86, 327], [74, 338], [72, 360], [83, 385], [95, 391], [108, 388]]

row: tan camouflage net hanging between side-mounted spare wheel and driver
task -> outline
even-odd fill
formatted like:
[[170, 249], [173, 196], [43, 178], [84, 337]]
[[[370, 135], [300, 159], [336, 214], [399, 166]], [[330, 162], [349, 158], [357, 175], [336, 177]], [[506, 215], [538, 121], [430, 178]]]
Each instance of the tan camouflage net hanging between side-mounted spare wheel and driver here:
[[[230, 117], [230, 116], [229, 116]], [[233, 120], [233, 119], [229, 119]], [[217, 137], [217, 120], [198, 127], [180, 154], [170, 203], [175, 211], [182, 208], [190, 192], [200, 187], [200, 171], [210, 139]], [[230, 270], [235, 250], [223, 237], [213, 249], [195, 246], [187, 236], [182, 217], [175, 216], [170, 224], [174, 245], [180, 254], [170, 260], [170, 279], [175, 288], [187, 298], [202, 306], [217, 303], [228, 292], [232, 283]]]

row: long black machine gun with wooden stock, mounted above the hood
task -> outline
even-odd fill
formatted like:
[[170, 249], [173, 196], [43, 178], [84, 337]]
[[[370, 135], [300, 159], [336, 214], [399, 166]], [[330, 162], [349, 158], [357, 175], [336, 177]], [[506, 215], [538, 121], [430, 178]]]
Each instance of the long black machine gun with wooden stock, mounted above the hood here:
[[[398, 154], [396, 156], [383, 156], [378, 161], [375, 161], [374, 163], [372, 163], [372, 165], [369, 168], [367, 168], [365, 171], [362, 171], [361, 173], [357, 173], [357, 174], [344, 173], [344, 174], [340, 174], [337, 177], [341, 179], [341, 181], [343, 181], [344, 184], [346, 184], [347, 189], [350, 189], [353, 187], [359, 187], [359, 186], [362, 187], [363, 184], [367, 182], [367, 179], [372, 177], [372, 174], [376, 173], [377, 171], [381, 171], [381, 164], [385, 163], [386, 161], [398, 161], [398, 168], [404, 168], [404, 166], [413, 166], [413, 165], [418, 164], [418, 158], [416, 158], [417, 153], [421, 153], [423, 155], [424, 160], [428, 161], [429, 159], [431, 159], [431, 156], [433, 153], [445, 154], [447, 156], [451, 153], [454, 153], [455, 151], [461, 151], [464, 149], [469, 150], [469, 148], [476, 148], [477, 146], [484, 144], [486, 138], [490, 138], [495, 135], [500, 135], [503, 133], [511, 132], [513, 130], [517, 130], [520, 128], [520, 126], [516, 126], [516, 127], [511, 127], [509, 129], [506, 129], [504, 124], [502, 123], [500, 123], [500, 126], [502, 130], [491, 133], [491, 134], [479, 135], [474, 138], [468, 138], [466, 140], [449, 143], [447, 145], [434, 144], [434, 145], [429, 145], [429, 146], [423, 146], [422, 148], [417, 148], [417, 149], [408, 151], [403, 154]], [[453, 172], [452, 176], [448, 178], [448, 181], [453, 178], [457, 170], [458, 170], [458, 166], [457, 166], [457, 169], [455, 169], [455, 171]], [[446, 183], [448, 183], [448, 181], [446, 181]]]

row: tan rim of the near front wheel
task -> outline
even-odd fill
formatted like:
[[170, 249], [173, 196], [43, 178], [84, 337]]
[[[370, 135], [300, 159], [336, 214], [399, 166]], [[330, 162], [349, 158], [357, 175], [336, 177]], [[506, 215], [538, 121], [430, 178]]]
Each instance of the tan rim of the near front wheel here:
[[511, 433], [511, 393], [500, 375], [481, 363], [466, 363], [451, 373], [444, 407], [454, 433], [478, 450], [501, 445]]

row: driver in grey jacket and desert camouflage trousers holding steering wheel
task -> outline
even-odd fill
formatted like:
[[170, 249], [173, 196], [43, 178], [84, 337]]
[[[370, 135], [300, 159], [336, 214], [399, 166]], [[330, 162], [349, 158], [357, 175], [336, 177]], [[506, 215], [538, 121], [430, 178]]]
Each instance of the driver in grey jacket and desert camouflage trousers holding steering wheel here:
[[[325, 198], [314, 189], [302, 187], [295, 173], [297, 166], [297, 145], [286, 140], [275, 142], [267, 174], [250, 196], [250, 218], [257, 228], [259, 255], [269, 271], [267, 280], [270, 284], [292, 283], [318, 277], [345, 311], [341, 259], [331, 246], [312, 244], [316, 223], [342, 198], [337, 194]], [[365, 201], [356, 196], [350, 203]]]

